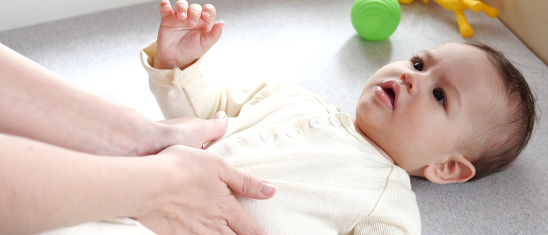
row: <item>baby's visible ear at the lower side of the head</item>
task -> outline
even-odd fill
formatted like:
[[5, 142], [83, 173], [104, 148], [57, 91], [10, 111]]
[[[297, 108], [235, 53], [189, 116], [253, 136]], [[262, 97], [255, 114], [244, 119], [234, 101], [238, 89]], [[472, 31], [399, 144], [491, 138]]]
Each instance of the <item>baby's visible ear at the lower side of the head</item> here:
[[462, 155], [452, 156], [446, 162], [424, 168], [424, 177], [438, 185], [464, 183], [475, 174], [476, 168]]

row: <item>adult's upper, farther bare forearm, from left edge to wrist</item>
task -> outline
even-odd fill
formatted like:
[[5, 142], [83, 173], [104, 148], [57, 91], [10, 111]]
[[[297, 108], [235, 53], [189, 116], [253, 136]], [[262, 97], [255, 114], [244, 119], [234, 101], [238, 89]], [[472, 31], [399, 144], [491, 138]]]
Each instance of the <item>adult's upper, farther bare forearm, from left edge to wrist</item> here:
[[0, 44], [0, 133], [72, 150], [145, 155], [169, 146], [150, 141], [167, 128], [132, 108], [80, 88]]

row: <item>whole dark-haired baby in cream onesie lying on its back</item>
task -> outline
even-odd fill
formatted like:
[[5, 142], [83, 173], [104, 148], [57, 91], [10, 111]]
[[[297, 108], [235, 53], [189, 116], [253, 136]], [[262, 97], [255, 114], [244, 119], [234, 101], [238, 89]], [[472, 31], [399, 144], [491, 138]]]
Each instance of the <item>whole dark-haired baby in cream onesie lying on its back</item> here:
[[462, 183], [500, 171], [532, 133], [534, 99], [504, 56], [449, 43], [380, 68], [355, 118], [292, 85], [234, 90], [203, 79], [221, 36], [212, 5], [160, 4], [158, 41], [141, 51], [165, 118], [229, 116], [206, 150], [275, 184], [238, 197], [268, 234], [420, 234], [409, 175]]

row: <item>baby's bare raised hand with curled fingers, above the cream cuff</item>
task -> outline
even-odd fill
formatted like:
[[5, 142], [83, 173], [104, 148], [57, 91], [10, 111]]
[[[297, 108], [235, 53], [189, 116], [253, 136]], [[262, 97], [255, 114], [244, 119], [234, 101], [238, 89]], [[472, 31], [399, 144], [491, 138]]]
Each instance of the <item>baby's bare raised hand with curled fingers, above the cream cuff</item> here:
[[221, 37], [224, 21], [215, 20], [215, 7], [191, 4], [185, 0], [175, 3], [175, 10], [168, 0], [160, 3], [162, 22], [158, 30], [157, 51], [154, 67], [181, 70], [205, 54]]

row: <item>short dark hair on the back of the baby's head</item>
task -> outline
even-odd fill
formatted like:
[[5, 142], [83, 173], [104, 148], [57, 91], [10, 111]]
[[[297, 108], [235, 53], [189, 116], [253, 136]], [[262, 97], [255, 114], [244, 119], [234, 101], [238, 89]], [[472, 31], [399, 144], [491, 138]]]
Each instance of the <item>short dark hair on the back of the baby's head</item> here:
[[461, 147], [474, 150], [466, 156], [476, 168], [476, 175], [469, 180], [473, 181], [505, 169], [517, 158], [529, 142], [537, 116], [535, 98], [521, 71], [500, 51], [486, 44], [466, 44], [487, 54], [499, 72], [510, 105], [507, 117], [503, 115], [487, 119], [487, 122], [495, 122], [483, 123], [482, 127], [475, 129], [475, 134], [471, 134], [469, 140], [473, 141], [463, 141]]

